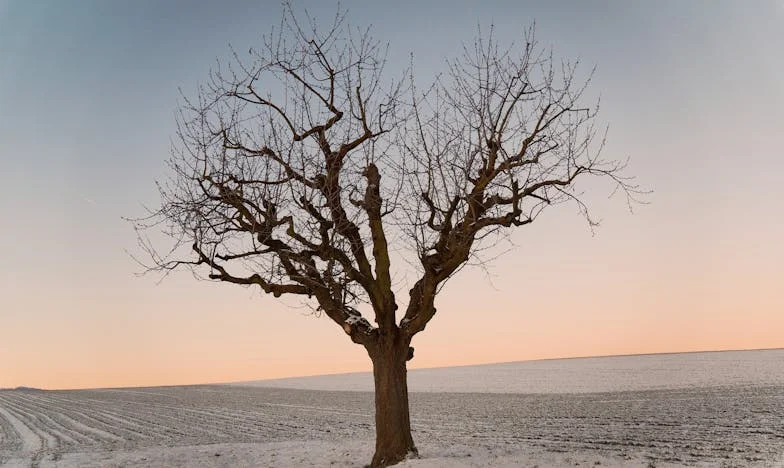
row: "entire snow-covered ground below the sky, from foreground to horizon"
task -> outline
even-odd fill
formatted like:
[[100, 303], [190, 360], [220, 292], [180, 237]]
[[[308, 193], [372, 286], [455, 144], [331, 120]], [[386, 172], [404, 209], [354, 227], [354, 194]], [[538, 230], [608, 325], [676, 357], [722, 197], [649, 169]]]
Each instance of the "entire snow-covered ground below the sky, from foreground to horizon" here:
[[[422, 458], [404, 466], [784, 466], [784, 351], [633, 358], [412, 372], [473, 376], [484, 391], [412, 382]], [[695, 362], [712, 375], [688, 377]], [[543, 367], [517, 380], [498, 370], [525, 365]], [[450, 388], [464, 389], [454, 378]], [[523, 380], [549, 391], [526, 392]], [[0, 391], [0, 465], [358, 467], [372, 455], [372, 401], [240, 385]]]

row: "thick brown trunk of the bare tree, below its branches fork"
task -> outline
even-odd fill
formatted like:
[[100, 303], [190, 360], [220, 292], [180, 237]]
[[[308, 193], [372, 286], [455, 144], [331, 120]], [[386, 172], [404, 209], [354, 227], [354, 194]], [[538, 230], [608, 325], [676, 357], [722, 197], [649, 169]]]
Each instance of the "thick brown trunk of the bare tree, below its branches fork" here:
[[408, 342], [395, 335], [394, 339], [382, 340], [370, 353], [376, 386], [376, 453], [370, 465], [374, 468], [394, 465], [410, 453], [417, 454], [408, 414]]

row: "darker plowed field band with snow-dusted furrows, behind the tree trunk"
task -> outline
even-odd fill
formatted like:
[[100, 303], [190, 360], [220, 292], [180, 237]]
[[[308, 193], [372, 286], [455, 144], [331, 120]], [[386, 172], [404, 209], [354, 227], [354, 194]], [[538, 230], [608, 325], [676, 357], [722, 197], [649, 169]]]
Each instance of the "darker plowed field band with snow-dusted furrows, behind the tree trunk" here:
[[[0, 465], [63, 454], [373, 437], [373, 397], [257, 387], [0, 391]], [[694, 465], [784, 453], [784, 387], [411, 395], [417, 440], [508, 452], [589, 450]]]

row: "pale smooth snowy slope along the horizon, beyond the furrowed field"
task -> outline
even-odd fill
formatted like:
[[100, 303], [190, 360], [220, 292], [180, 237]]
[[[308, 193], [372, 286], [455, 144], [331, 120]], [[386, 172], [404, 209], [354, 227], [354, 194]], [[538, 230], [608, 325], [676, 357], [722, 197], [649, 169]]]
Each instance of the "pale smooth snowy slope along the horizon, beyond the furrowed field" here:
[[[372, 391], [373, 377], [358, 372], [237, 385]], [[737, 385], [784, 386], [784, 349], [543, 359], [408, 372], [412, 392], [595, 393]]]

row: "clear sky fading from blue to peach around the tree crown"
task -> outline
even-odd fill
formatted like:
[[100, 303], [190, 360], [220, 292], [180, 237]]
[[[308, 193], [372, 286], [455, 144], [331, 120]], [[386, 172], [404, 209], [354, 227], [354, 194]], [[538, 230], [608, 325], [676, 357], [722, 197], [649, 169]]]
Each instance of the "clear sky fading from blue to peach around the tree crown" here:
[[[330, 2], [295, 2], [319, 20]], [[630, 213], [586, 193], [468, 269], [415, 337], [411, 368], [784, 347], [784, 2], [344, 1], [427, 78], [494, 24], [536, 21], [595, 64], [605, 156], [653, 190]], [[276, 2], [0, 0], [0, 387], [90, 388], [370, 370], [328, 318], [258, 290], [139, 276], [123, 217], [155, 206], [178, 89]], [[401, 292], [407, 288], [402, 285]]]

